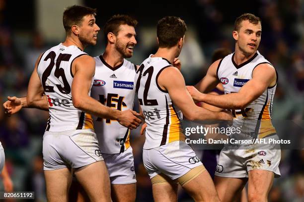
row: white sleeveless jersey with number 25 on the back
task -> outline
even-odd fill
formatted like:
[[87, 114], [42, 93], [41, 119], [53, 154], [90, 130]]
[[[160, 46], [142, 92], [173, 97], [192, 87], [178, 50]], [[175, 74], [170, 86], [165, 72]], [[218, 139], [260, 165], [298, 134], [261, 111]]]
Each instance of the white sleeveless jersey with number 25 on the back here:
[[37, 72], [49, 102], [49, 119], [46, 131], [62, 132], [76, 129], [93, 129], [90, 114], [73, 105], [71, 86], [72, 63], [86, 54], [76, 46], [62, 44], [45, 51], [38, 63]]

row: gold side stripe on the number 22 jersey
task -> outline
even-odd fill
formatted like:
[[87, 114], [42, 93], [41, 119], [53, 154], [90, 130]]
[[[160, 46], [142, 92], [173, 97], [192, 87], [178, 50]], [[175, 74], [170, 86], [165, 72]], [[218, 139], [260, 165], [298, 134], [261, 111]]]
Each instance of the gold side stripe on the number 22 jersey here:
[[180, 121], [175, 113], [172, 105], [169, 106], [170, 110], [170, 128], [169, 128], [169, 142], [179, 141], [180, 140]]

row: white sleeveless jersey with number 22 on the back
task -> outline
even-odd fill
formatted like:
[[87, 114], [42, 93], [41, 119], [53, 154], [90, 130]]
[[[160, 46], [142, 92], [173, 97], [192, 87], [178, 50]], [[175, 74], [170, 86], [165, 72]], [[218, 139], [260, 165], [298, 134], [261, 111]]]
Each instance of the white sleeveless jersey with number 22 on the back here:
[[147, 123], [145, 150], [184, 140], [182, 113], [174, 106], [168, 92], [157, 84], [161, 71], [172, 65], [162, 57], [151, 56], [141, 64], [135, 79], [136, 93]]

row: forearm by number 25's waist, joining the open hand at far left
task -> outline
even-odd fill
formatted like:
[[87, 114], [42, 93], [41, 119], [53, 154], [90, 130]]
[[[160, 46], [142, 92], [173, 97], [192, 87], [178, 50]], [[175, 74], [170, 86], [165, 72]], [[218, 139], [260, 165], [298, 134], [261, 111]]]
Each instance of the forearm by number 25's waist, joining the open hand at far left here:
[[41, 110], [48, 111], [49, 110], [49, 104], [46, 99], [46, 96], [42, 97], [35, 97], [35, 98], [21, 98], [21, 105], [22, 108], [37, 108]]

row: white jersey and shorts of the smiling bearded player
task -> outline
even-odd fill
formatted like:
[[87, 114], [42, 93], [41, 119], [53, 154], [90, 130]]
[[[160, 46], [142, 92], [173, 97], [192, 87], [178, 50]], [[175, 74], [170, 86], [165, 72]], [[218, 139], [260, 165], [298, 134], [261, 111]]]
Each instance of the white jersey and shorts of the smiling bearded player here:
[[[111, 67], [102, 55], [94, 57], [96, 69], [91, 97], [120, 110], [133, 108], [136, 67], [124, 59]], [[134, 158], [130, 146], [130, 129], [116, 120], [93, 116], [100, 151], [108, 168], [111, 184], [136, 183]]]

